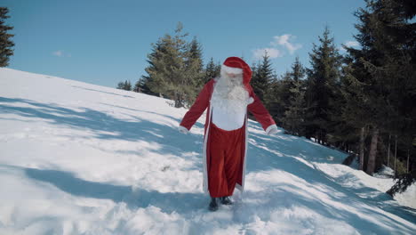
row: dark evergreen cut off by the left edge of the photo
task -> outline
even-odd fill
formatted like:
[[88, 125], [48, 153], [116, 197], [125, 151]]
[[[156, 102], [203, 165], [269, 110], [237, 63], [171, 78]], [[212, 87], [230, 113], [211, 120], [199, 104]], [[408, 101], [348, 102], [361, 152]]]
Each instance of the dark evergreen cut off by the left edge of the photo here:
[[8, 33], [8, 30], [12, 30], [13, 27], [5, 25], [5, 19], [10, 18], [7, 15], [8, 12], [7, 7], [0, 7], [0, 67], [8, 66], [10, 56], [13, 55], [14, 43], [11, 38], [14, 35]]

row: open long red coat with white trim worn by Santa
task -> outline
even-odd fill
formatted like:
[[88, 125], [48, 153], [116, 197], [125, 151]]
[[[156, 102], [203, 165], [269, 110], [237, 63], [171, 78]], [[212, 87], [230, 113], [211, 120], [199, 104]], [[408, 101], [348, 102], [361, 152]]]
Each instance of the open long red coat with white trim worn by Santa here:
[[[196, 123], [196, 120], [201, 117], [201, 115], [204, 113], [204, 110], [208, 108], [206, 119], [205, 119], [205, 125], [204, 125], [204, 152], [203, 152], [203, 160], [204, 160], [204, 192], [209, 193], [208, 191], [208, 169], [209, 169], [209, 156], [210, 156], [210, 148], [209, 146], [209, 136], [210, 136], [210, 124], [211, 124], [211, 116], [212, 116], [212, 107], [210, 105], [211, 96], [213, 87], [216, 80], [211, 79], [208, 83], [204, 85], [204, 88], [202, 91], [198, 94], [198, 97], [196, 98], [196, 101], [192, 105], [192, 107], [188, 110], [188, 112], [185, 114], [184, 118], [180, 122], [180, 126], [185, 127], [188, 131], [194, 124]], [[252, 97], [253, 101], [251, 104], [247, 106], [247, 110], [250, 111], [254, 118], [260, 123], [260, 125], [263, 127], [263, 129], [268, 133], [271, 129], [277, 128], [275, 121], [273, 118], [271, 118], [270, 114], [268, 113], [268, 110], [264, 108], [263, 104], [261, 103], [260, 99], [257, 97], [257, 95], [252, 91], [252, 87], [250, 87], [249, 96]], [[247, 140], [248, 140], [248, 119], [247, 115], [245, 115], [245, 121], [244, 121], [244, 129], [245, 129], [245, 138], [244, 138], [244, 150], [242, 151], [243, 156], [241, 156], [241, 169], [240, 169], [240, 177], [237, 179], [236, 188], [238, 190], [243, 191], [244, 190], [244, 175], [245, 175], [245, 156], [247, 155]], [[183, 128], [181, 127], [181, 128]]]

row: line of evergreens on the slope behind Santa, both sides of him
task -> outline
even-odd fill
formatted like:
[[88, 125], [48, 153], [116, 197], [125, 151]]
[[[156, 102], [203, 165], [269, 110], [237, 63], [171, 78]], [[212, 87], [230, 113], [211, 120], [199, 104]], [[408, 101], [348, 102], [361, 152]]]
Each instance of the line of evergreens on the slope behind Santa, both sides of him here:
[[[252, 87], [278, 126], [358, 158], [367, 174], [389, 166], [398, 174], [416, 174], [416, 25], [409, 0], [366, 0], [358, 8], [354, 36], [359, 48], [334, 45], [324, 28], [308, 53], [283, 75], [268, 54], [252, 64]], [[202, 46], [187, 41], [179, 23], [152, 45], [147, 75], [131, 88], [189, 107], [202, 86], [219, 76], [220, 63], [204, 66]]]

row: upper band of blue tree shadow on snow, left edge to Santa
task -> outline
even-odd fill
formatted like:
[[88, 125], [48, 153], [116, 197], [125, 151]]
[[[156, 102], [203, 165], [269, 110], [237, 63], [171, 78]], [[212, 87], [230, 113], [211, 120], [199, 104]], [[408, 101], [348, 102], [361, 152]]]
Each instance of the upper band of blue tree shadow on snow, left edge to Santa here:
[[[25, 99], [12, 99], [0, 97], [0, 114], [12, 113], [24, 118], [43, 118], [49, 124], [57, 126], [70, 126], [77, 129], [86, 129], [92, 132], [94, 138], [102, 140], [124, 140], [124, 141], [145, 141], [163, 143], [159, 144], [160, 148], [154, 151], [158, 154], [172, 154], [187, 158], [185, 153], [197, 152], [202, 150], [203, 137], [200, 134], [180, 134], [178, 126], [170, 124], [157, 124], [143, 118], [129, 115], [132, 120], [115, 118], [110, 113], [102, 112], [95, 109], [84, 108], [83, 110], [74, 110], [63, 108], [55, 104], [46, 104]], [[20, 107], [18, 103], [25, 103], [25, 107]], [[116, 107], [116, 106], [115, 106]], [[124, 108], [124, 107], [121, 107]], [[134, 110], [134, 109], [132, 109]], [[148, 112], [145, 110], [137, 110]], [[157, 114], [154, 112], [148, 112]], [[177, 118], [157, 114], [164, 118], [169, 118], [180, 123]], [[0, 118], [4, 119], [4, 118]], [[26, 120], [25, 120], [26, 122]], [[196, 124], [199, 128], [204, 128], [201, 124]], [[178, 138], [180, 136], [180, 138]], [[76, 136], [76, 138], [91, 138], [90, 136]], [[201, 144], [197, 144], [201, 143]], [[117, 151], [117, 150], [116, 150]], [[130, 154], [140, 155], [139, 151], [129, 151]], [[196, 167], [202, 166], [202, 163], [196, 164]]]

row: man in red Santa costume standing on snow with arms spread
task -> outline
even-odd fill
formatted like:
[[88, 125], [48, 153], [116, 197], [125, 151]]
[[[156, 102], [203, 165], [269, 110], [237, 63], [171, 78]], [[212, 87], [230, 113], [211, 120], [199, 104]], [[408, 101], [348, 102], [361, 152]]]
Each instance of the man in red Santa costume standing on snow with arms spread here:
[[188, 133], [207, 109], [204, 126], [204, 192], [211, 196], [209, 209], [218, 209], [217, 199], [232, 204], [234, 189], [244, 190], [247, 155], [247, 110], [260, 122], [266, 134], [276, 134], [277, 126], [268, 110], [252, 91], [252, 70], [242, 59], [228, 57], [220, 77], [204, 85], [195, 103], [180, 122]]

